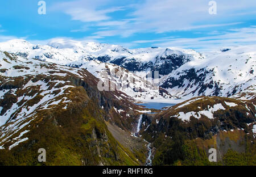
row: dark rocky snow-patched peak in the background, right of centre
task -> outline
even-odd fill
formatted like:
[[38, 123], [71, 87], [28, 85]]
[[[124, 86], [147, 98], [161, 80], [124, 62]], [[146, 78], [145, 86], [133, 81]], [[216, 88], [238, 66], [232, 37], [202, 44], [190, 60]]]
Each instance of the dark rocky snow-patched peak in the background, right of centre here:
[[202, 59], [195, 50], [172, 48], [142, 48], [131, 50], [133, 55], [112, 59], [108, 62], [117, 64], [130, 71], [159, 71], [160, 75], [171, 73], [172, 70], [195, 58]]

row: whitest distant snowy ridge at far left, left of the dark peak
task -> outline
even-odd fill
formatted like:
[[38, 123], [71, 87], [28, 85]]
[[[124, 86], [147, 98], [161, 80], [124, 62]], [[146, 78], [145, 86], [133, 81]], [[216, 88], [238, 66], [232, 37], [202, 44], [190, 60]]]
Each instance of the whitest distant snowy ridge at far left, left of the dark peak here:
[[116, 58], [130, 55], [129, 51], [118, 45], [63, 39], [49, 41], [47, 45], [31, 44], [26, 40], [15, 39], [1, 43], [0, 46], [0, 50], [19, 56], [63, 65], [81, 59], [92, 60], [104, 56]]

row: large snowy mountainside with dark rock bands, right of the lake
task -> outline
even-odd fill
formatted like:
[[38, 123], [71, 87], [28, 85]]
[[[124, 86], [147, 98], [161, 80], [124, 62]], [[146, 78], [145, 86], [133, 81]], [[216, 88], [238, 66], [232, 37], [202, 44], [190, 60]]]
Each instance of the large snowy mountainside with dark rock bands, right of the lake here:
[[[204, 60], [187, 62], [160, 81], [171, 94], [191, 98], [200, 95], [232, 96], [255, 93], [254, 46], [216, 50]], [[223, 52], [225, 51], [225, 52]]]

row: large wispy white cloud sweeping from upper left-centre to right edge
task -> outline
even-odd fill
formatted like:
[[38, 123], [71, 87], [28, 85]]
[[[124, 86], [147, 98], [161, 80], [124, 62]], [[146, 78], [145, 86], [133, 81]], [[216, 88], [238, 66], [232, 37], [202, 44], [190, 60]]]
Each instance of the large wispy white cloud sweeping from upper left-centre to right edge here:
[[[144, 0], [126, 2], [124, 8], [118, 1], [84, 0], [58, 4], [56, 7], [96, 29], [94, 34], [101, 37], [129, 37], [134, 33], [191, 30], [237, 25], [241, 19], [236, 16], [255, 13], [256, 1], [226, 0], [217, 1], [217, 15], [210, 15], [209, 1], [206, 0]], [[129, 10], [129, 14], [116, 20], [109, 13]], [[253, 16], [253, 15], [251, 15]], [[126, 19], [124, 19], [126, 18]], [[93, 24], [91, 22], [94, 22]], [[105, 27], [102, 30], [101, 27]], [[72, 32], [86, 31], [87, 28], [73, 29]]]

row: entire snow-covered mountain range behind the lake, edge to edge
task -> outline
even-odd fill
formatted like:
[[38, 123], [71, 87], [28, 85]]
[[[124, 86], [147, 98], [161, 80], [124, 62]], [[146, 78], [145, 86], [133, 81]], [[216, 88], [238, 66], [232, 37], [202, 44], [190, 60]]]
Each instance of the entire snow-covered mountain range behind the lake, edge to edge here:
[[[223, 48], [201, 54], [191, 49], [126, 49], [119, 45], [55, 39], [47, 45], [11, 40], [0, 43], [0, 50], [27, 58], [85, 68], [100, 79], [102, 71], [115, 69], [129, 75], [128, 78], [138, 78], [141, 81], [138, 85], [127, 88], [142, 89], [143, 81], [139, 77], [144, 77], [149, 71], [159, 71], [159, 86], [172, 96], [180, 98], [236, 95], [233, 97], [250, 99], [255, 93], [255, 45]], [[117, 80], [114, 82], [120, 83], [121, 80]], [[167, 91], [164, 91], [165, 95], [159, 96], [152, 87], [147, 89], [147, 92], [129, 92], [126, 88], [122, 91], [139, 99], [170, 98]]]

